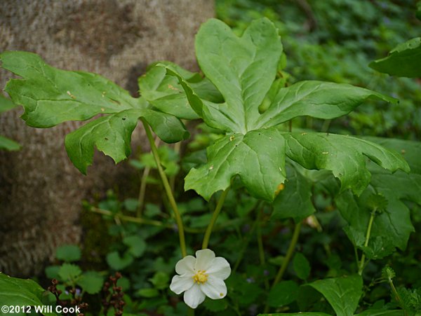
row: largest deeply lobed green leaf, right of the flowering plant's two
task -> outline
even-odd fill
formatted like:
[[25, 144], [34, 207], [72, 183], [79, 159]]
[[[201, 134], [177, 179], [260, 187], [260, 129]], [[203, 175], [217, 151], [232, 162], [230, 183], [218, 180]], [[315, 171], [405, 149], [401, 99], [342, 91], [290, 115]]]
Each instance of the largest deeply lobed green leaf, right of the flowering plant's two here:
[[[225, 99], [225, 103], [218, 104], [201, 99], [171, 65], [157, 65], [178, 78], [190, 106], [207, 125], [227, 132], [227, 136], [208, 147], [206, 165], [187, 174], [186, 190], [192, 188], [208, 200], [239, 175], [251, 195], [273, 200], [276, 188], [285, 180], [284, 153], [303, 167], [332, 170], [341, 180], [342, 190], [352, 188], [355, 193], [361, 193], [370, 181], [364, 155], [389, 170], [408, 170], [398, 154], [359, 139], [332, 135], [328, 141], [314, 134], [300, 144], [302, 135], [279, 132], [278, 125], [295, 116], [343, 116], [368, 97], [395, 102], [351, 85], [319, 81], [305, 81], [288, 88], [274, 85], [281, 49], [276, 28], [267, 19], [253, 22], [242, 37], [218, 20], [203, 24], [196, 36], [196, 55], [203, 73]], [[279, 90], [274, 94], [276, 88]], [[267, 110], [260, 114], [264, 99], [272, 104], [265, 104]], [[274, 136], [257, 137], [268, 133]], [[243, 150], [245, 141], [251, 139], [253, 144], [246, 144], [248, 148]], [[342, 149], [344, 143], [347, 146]]]

